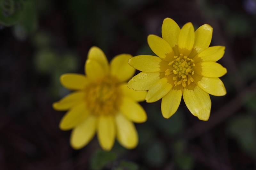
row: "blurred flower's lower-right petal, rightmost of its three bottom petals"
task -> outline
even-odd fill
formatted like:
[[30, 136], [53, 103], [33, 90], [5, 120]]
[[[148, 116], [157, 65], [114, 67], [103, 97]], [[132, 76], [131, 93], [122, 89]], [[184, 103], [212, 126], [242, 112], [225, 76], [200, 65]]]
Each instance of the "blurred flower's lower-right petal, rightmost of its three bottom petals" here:
[[138, 134], [134, 124], [122, 114], [115, 116], [117, 140], [127, 149], [135, 148], [138, 144]]

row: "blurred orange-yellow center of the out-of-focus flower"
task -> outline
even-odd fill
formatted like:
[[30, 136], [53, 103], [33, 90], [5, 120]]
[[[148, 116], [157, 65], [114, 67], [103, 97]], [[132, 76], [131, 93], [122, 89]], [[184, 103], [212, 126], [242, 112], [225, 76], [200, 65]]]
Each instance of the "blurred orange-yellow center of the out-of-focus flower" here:
[[87, 85], [85, 100], [95, 116], [114, 115], [120, 103], [120, 95], [116, 78], [105, 77]]

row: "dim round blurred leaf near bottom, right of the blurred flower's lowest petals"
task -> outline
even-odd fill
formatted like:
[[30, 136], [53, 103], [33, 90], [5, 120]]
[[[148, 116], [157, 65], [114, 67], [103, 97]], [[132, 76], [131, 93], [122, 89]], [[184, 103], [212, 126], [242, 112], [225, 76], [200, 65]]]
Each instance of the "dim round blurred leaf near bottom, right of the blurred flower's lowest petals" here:
[[153, 167], [161, 166], [166, 161], [166, 157], [166, 147], [160, 141], [152, 141], [144, 155], [146, 163]]

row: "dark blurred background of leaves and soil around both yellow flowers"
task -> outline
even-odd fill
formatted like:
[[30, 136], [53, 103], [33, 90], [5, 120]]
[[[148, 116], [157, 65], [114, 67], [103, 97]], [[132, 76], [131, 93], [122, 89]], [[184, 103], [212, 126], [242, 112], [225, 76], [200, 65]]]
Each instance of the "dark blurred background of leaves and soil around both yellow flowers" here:
[[[256, 0], [0, 0], [0, 10], [1, 170], [256, 169]], [[65, 112], [52, 109], [69, 93], [60, 75], [83, 74], [92, 46], [108, 60], [154, 55], [147, 36], [161, 36], [167, 17], [180, 27], [210, 24], [210, 46], [226, 46], [218, 63], [228, 70], [221, 78], [227, 95], [211, 96], [209, 121], [183, 100], [170, 119], [161, 115], [161, 100], [142, 102], [148, 121], [136, 124], [137, 148], [116, 141], [103, 152], [94, 137], [72, 149], [70, 131], [58, 127]]]

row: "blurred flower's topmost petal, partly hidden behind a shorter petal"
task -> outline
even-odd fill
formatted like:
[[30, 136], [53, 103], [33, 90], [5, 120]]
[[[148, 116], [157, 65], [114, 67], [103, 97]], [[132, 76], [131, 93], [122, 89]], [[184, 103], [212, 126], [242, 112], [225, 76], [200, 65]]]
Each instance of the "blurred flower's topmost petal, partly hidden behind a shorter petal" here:
[[95, 46], [90, 48], [88, 52], [88, 59], [98, 62], [101, 68], [104, 70], [104, 72], [108, 73], [109, 71], [108, 59], [100, 48]]

